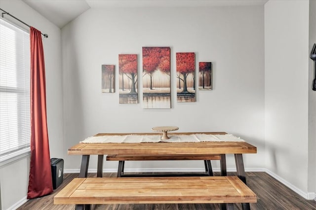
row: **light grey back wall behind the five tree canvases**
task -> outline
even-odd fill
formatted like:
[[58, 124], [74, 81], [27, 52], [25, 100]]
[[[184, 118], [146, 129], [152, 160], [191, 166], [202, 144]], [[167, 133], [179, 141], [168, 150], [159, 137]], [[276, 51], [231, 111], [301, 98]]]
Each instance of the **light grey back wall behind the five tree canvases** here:
[[[209, 8], [89, 9], [62, 29], [65, 169], [78, 171], [80, 156], [67, 148], [102, 132], [151, 132], [175, 125], [179, 132], [226, 131], [258, 147], [244, 155], [245, 167], [264, 167], [263, 6]], [[138, 54], [143, 46], [171, 47], [171, 109], [118, 104], [116, 93], [101, 93], [101, 65], [118, 54]], [[196, 103], [176, 102], [175, 53], [196, 52], [213, 62], [214, 89], [197, 91]], [[139, 81], [139, 87], [142, 82]], [[139, 89], [141, 93], [141, 88]], [[128, 162], [126, 168], [202, 169], [196, 162]], [[215, 166], [216, 167], [216, 166]], [[218, 165], [217, 165], [218, 167]], [[228, 167], [235, 168], [230, 156]], [[90, 159], [96, 169], [96, 158]], [[116, 170], [116, 162], [105, 169]]]

